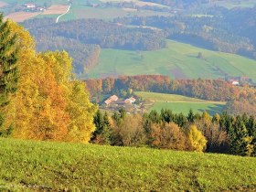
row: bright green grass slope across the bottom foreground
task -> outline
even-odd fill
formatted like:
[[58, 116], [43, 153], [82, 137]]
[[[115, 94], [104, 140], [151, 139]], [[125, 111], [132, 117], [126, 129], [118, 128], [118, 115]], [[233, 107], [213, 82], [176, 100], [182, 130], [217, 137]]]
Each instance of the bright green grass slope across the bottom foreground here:
[[253, 191], [256, 158], [0, 138], [0, 190]]

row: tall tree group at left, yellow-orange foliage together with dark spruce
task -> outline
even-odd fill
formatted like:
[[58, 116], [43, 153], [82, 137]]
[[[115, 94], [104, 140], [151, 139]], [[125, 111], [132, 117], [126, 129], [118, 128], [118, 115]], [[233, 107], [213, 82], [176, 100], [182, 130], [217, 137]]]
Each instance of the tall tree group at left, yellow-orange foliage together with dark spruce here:
[[66, 52], [37, 54], [32, 37], [0, 16], [2, 136], [87, 143], [96, 111]]

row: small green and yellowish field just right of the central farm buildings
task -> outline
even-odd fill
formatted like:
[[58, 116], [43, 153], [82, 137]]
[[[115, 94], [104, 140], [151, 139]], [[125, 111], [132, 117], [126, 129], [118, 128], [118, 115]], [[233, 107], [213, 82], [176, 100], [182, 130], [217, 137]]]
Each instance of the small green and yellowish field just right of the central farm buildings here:
[[225, 102], [198, 100], [176, 94], [137, 91], [135, 95], [142, 97], [145, 101], [153, 101], [149, 111], [155, 110], [157, 112], [168, 109], [176, 113], [187, 114], [192, 109], [193, 112], [206, 111], [210, 115], [214, 115], [223, 112], [226, 106]]

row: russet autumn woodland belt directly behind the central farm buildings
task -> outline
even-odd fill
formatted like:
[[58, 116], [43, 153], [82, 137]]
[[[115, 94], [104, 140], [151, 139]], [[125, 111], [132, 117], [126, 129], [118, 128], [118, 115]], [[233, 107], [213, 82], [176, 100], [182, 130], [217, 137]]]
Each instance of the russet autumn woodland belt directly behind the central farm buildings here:
[[154, 91], [185, 95], [208, 101], [226, 101], [231, 114], [256, 113], [256, 89], [244, 84], [234, 86], [225, 80], [170, 80], [165, 76], [132, 76], [119, 79], [85, 80], [93, 99], [101, 94], [123, 91]]

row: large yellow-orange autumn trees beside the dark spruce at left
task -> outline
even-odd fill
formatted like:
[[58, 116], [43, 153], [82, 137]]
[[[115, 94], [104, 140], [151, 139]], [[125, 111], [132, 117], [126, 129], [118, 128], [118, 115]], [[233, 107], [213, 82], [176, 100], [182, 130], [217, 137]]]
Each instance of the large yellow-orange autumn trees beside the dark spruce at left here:
[[[72, 77], [67, 52], [36, 53], [33, 39], [10, 22], [20, 48], [18, 90], [9, 107], [10, 136], [87, 143], [95, 127], [96, 106], [85, 84]], [[5, 126], [7, 127], [7, 126]]]

